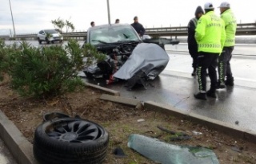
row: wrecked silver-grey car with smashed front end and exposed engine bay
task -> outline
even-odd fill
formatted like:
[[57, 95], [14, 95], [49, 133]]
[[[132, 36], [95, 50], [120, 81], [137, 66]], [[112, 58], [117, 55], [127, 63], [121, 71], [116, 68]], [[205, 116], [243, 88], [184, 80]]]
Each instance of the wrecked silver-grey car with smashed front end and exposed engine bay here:
[[86, 43], [105, 53], [106, 60], [86, 65], [83, 72], [89, 78], [105, 78], [107, 84], [120, 79], [132, 81], [131, 85], [143, 84], [144, 80], [158, 76], [169, 61], [164, 50], [167, 42], [142, 39], [129, 24], [94, 26], [87, 31]]

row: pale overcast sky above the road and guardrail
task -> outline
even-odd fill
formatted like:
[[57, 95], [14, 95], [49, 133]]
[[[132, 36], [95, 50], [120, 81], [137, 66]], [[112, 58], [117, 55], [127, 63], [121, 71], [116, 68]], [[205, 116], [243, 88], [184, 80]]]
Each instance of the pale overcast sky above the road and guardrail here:
[[[38, 33], [40, 29], [52, 29], [51, 20], [70, 20], [75, 31], [86, 31], [90, 21], [96, 25], [108, 23], [106, 0], [10, 0], [16, 33]], [[205, 0], [109, 0], [110, 21], [119, 18], [121, 23], [132, 23], [134, 16], [145, 27], [187, 25], [194, 17], [197, 6]], [[221, 0], [211, 1], [215, 13]], [[231, 1], [230, 5], [238, 23], [256, 20], [254, 0]], [[9, 0], [1, 0], [0, 35], [13, 33]]]

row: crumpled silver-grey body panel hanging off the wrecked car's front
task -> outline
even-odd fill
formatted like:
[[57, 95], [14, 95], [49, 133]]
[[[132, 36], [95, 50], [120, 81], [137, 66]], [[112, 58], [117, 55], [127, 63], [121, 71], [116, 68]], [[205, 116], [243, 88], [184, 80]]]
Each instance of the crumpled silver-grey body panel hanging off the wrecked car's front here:
[[140, 43], [122, 67], [114, 73], [114, 77], [129, 80], [136, 72], [143, 70], [150, 79], [162, 72], [169, 62], [164, 49], [156, 44]]

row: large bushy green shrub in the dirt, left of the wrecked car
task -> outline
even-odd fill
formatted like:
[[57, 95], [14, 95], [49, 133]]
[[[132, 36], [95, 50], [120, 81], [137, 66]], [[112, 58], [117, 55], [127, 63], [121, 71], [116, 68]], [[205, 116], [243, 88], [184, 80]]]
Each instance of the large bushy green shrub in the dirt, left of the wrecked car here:
[[10, 54], [11, 86], [21, 96], [47, 98], [72, 92], [82, 86], [82, 49], [78, 41], [35, 48], [22, 42], [22, 49]]

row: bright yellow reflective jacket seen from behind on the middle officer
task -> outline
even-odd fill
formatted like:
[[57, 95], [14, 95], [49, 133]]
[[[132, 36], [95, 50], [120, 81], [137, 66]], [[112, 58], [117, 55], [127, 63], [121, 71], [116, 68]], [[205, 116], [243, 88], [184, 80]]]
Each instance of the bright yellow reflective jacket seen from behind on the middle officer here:
[[226, 40], [222, 18], [209, 11], [198, 20], [194, 35], [198, 42], [198, 52], [222, 53]]

